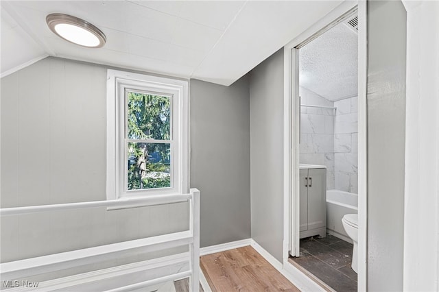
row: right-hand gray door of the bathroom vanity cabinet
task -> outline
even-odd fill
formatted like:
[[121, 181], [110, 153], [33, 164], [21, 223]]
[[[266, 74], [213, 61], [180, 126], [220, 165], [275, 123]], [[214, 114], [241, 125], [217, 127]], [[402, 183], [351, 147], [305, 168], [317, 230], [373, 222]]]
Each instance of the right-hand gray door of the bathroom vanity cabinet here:
[[[308, 170], [308, 230], [327, 226], [327, 170]], [[302, 195], [300, 191], [300, 195]], [[300, 206], [300, 210], [302, 206]]]

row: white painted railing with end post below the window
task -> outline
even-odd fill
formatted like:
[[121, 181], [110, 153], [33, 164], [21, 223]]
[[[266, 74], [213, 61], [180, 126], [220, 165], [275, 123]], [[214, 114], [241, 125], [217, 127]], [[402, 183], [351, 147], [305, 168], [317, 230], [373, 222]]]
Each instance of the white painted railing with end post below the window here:
[[190, 222], [189, 230], [173, 234], [163, 234], [145, 239], [113, 243], [99, 247], [89, 247], [83, 250], [62, 252], [60, 254], [49, 254], [37, 258], [27, 258], [9, 263], [0, 264], [2, 280], [8, 278], [22, 278], [36, 273], [47, 273], [58, 269], [75, 267], [78, 263], [93, 263], [93, 261], [106, 258], [106, 256], [120, 256], [121, 254], [132, 254], [132, 252], [155, 252], [169, 247], [189, 244], [189, 271], [175, 273], [145, 282], [129, 284], [126, 287], [119, 287], [114, 291], [126, 291], [133, 287], [146, 287], [150, 284], [161, 283], [165, 280], [177, 280], [183, 276], [190, 277], [190, 291], [200, 291], [200, 191], [191, 188], [191, 193], [182, 195], [154, 195], [149, 197], [132, 197], [109, 201], [79, 202], [68, 204], [54, 204], [42, 206], [26, 206], [16, 208], [0, 209], [1, 216], [21, 215], [33, 212], [46, 212], [51, 210], [67, 210], [78, 208], [95, 208], [110, 206], [152, 206], [158, 204], [171, 204], [187, 202], [189, 200]]

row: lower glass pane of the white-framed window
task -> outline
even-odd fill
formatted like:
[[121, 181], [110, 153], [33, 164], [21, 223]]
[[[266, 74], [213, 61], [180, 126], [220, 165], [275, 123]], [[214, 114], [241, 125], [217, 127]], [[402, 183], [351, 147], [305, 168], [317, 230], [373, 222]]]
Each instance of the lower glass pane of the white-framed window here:
[[128, 143], [128, 191], [171, 186], [170, 143]]

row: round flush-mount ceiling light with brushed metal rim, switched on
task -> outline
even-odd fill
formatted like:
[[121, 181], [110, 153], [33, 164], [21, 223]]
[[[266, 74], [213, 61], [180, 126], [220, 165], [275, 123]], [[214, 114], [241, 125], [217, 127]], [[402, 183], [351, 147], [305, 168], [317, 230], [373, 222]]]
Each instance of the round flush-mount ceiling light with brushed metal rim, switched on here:
[[73, 44], [90, 48], [100, 48], [105, 45], [105, 34], [95, 25], [78, 17], [53, 13], [47, 15], [46, 23], [54, 34]]

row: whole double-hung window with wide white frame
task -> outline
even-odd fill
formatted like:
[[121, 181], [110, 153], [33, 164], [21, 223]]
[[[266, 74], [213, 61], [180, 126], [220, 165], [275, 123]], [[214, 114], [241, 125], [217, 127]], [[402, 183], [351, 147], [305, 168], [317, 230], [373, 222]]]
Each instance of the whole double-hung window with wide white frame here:
[[187, 193], [188, 82], [108, 70], [107, 199]]

